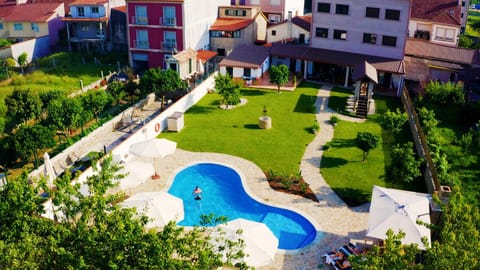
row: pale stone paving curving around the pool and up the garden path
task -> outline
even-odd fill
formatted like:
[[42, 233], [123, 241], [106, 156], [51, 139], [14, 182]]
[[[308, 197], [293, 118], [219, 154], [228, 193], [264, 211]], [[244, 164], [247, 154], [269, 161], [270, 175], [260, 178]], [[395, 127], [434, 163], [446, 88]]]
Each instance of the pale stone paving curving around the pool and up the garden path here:
[[[218, 163], [235, 169], [246, 190], [255, 199], [275, 206], [295, 210], [307, 218], [320, 230], [321, 237], [305, 248], [292, 252], [278, 252], [275, 261], [269, 266], [257, 269], [323, 269], [322, 255], [348, 242], [364, 241], [368, 223], [369, 204], [350, 208], [333, 192], [320, 174], [322, 147], [333, 138], [333, 127], [328, 123], [333, 111], [328, 108], [330, 85], [322, 85], [318, 91], [316, 105], [319, 108], [316, 115], [320, 124], [320, 132], [307, 146], [302, 158], [300, 169], [305, 181], [317, 195], [319, 202], [313, 202], [298, 195], [290, 195], [274, 191], [266, 181], [263, 171], [254, 163], [243, 158], [218, 153], [197, 153], [177, 149], [175, 154], [165, 157], [160, 162], [159, 180], [147, 180], [137, 187], [124, 190], [127, 195], [143, 191], [168, 190], [176, 173], [186, 166], [196, 163]], [[338, 115], [347, 121], [362, 121], [362, 119]]]

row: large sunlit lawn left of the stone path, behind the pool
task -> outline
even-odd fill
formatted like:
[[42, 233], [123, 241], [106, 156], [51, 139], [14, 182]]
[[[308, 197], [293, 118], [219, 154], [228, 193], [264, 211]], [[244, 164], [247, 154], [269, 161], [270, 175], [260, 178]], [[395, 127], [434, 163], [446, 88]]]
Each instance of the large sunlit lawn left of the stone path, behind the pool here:
[[[263, 170], [294, 173], [305, 148], [314, 135], [311, 111], [318, 85], [301, 84], [293, 92], [242, 90], [247, 104], [232, 110], [219, 108], [221, 97], [207, 94], [185, 113], [180, 133], [165, 132], [160, 137], [176, 141], [181, 149], [217, 152], [243, 157]], [[259, 129], [258, 118], [266, 105], [272, 129]]]

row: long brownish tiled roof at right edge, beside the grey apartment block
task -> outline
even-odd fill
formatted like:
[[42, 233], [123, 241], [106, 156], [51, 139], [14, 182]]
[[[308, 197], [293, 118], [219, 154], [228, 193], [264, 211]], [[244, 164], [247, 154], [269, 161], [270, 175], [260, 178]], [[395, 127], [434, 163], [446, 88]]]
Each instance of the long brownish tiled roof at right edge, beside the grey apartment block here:
[[433, 44], [418, 39], [407, 39], [405, 55], [469, 65], [480, 64], [478, 50]]

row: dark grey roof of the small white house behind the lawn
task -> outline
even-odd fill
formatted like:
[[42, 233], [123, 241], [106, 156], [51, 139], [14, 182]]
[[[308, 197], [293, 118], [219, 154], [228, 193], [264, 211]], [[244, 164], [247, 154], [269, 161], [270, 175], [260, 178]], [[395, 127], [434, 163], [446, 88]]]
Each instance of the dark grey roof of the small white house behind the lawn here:
[[270, 47], [242, 45], [223, 58], [219, 66], [259, 68], [269, 56]]

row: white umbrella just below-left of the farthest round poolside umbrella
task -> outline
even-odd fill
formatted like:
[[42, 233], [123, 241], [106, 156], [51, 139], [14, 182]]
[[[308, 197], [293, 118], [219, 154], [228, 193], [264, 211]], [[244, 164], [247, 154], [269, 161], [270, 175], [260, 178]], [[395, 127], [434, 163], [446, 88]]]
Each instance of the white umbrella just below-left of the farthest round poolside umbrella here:
[[150, 162], [136, 159], [126, 162], [119, 171], [119, 174], [126, 174], [124, 178], [120, 179], [120, 188], [127, 189], [144, 183], [151, 176], [153, 170]]

